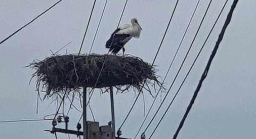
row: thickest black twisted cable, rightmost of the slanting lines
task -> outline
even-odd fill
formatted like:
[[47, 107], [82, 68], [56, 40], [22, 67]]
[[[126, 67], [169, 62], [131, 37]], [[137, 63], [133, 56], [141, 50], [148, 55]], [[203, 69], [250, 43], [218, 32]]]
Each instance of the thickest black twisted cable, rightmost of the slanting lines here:
[[189, 103], [189, 105], [188, 105], [188, 107], [186, 109], [186, 112], [185, 112], [185, 114], [184, 114], [184, 116], [183, 116], [183, 118], [182, 118], [182, 120], [181, 120], [181, 122], [180, 122], [180, 124], [179, 124], [179, 126], [177, 128], [177, 131], [175, 132], [175, 134], [173, 136], [173, 139], [177, 138], [178, 133], [181, 130], [181, 128], [182, 128], [182, 126], [183, 126], [183, 124], [184, 124], [184, 122], [186, 120], [186, 117], [187, 117], [188, 113], [190, 112], [190, 110], [192, 108], [193, 103], [195, 102], [196, 96], [197, 96], [198, 92], [200, 91], [202, 83], [203, 83], [204, 79], [206, 78], [206, 76], [208, 74], [208, 71], [210, 69], [210, 65], [211, 65], [211, 63], [213, 61], [213, 58], [214, 58], [215, 54], [217, 53], [218, 47], [219, 47], [219, 45], [220, 45], [220, 43], [221, 43], [221, 41], [223, 39], [224, 33], [225, 33], [226, 29], [227, 29], [227, 26], [228, 26], [228, 24], [231, 21], [232, 14], [233, 14], [233, 11], [234, 11], [234, 9], [236, 7], [237, 2], [238, 2], [238, 0], [234, 0], [233, 4], [231, 6], [231, 9], [230, 9], [230, 11], [229, 11], [229, 13], [227, 15], [227, 19], [226, 19], [226, 21], [224, 23], [224, 26], [222, 27], [221, 33], [219, 34], [218, 40], [217, 40], [217, 42], [216, 42], [216, 44], [215, 44], [215, 46], [213, 48], [213, 52], [212, 52], [212, 54], [211, 54], [211, 56], [209, 58], [209, 61], [208, 61], [207, 65], [206, 65], [205, 69], [204, 69], [204, 72], [203, 72], [203, 74], [201, 76], [201, 79], [200, 79], [200, 81], [199, 81], [199, 83], [198, 83], [198, 85], [196, 87], [194, 95], [193, 95], [193, 97], [192, 97], [192, 99], [191, 99], [191, 101], [190, 101], [190, 103]]

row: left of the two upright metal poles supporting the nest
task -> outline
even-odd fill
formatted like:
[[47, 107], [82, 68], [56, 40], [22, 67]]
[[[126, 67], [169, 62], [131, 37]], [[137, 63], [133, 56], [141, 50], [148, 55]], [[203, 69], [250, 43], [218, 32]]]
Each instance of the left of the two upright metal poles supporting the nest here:
[[86, 87], [83, 86], [83, 139], [87, 139], [87, 124], [86, 124]]

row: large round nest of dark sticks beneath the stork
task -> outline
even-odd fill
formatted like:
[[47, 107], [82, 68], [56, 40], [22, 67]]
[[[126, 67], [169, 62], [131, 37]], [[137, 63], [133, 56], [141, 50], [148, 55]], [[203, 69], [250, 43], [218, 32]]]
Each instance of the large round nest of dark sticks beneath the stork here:
[[143, 82], [147, 85], [151, 81], [154, 81], [151, 84], [159, 85], [154, 67], [139, 57], [129, 55], [55, 55], [43, 61], [33, 61], [29, 66], [36, 70], [32, 78], [37, 77], [38, 91], [43, 83], [47, 95], [82, 86], [140, 88]]

